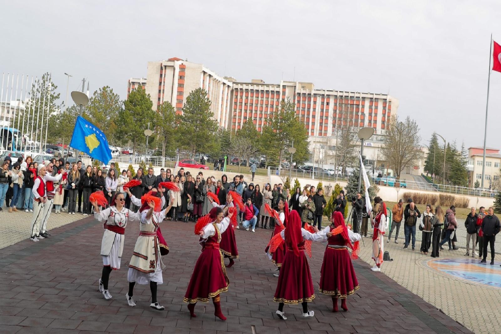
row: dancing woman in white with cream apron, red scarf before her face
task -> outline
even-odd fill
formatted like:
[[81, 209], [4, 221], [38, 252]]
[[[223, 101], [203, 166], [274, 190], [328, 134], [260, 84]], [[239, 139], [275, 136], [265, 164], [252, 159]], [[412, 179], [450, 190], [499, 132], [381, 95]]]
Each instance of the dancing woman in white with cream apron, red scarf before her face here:
[[[170, 210], [172, 202], [165, 210], [160, 210], [161, 200], [156, 192], [145, 195], [141, 198], [141, 208], [139, 214], [141, 224], [139, 225], [139, 237], [137, 237], [134, 252], [129, 262], [129, 292], [127, 302], [129, 306], [135, 306], [134, 285], [150, 284], [151, 304], [150, 307], [156, 310], [164, 310], [165, 307], [157, 302], [157, 284], [163, 283], [162, 269], [164, 264], [160, 256], [160, 246], [157, 236], [158, 224], [163, 221], [165, 214]], [[155, 198], [154, 198], [155, 197]], [[163, 196], [162, 196], [163, 197]]]

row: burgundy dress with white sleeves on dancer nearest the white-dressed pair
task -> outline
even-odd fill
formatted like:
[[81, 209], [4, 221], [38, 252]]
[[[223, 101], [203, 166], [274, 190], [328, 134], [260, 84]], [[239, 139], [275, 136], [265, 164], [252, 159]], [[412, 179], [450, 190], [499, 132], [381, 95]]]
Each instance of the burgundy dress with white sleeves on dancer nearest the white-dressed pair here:
[[226, 276], [226, 268], [224, 267], [223, 257], [219, 249], [221, 234], [216, 224], [212, 225], [216, 233], [207, 238], [202, 249], [202, 254], [200, 254], [196, 261], [186, 294], [184, 295], [183, 301], [190, 304], [197, 301], [208, 302], [209, 298], [228, 290], [229, 280]]

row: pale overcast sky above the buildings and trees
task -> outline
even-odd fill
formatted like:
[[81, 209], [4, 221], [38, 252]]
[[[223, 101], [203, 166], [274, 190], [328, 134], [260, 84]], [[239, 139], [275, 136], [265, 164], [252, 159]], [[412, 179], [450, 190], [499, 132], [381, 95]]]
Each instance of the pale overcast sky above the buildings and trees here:
[[[126, 97], [147, 61], [179, 57], [239, 81], [313, 82], [390, 93], [422, 142], [483, 145], [490, 34], [498, 1], [11, 1], [0, 72], [52, 72], [62, 99], [83, 77]], [[501, 73], [490, 81], [487, 146], [501, 148]]]

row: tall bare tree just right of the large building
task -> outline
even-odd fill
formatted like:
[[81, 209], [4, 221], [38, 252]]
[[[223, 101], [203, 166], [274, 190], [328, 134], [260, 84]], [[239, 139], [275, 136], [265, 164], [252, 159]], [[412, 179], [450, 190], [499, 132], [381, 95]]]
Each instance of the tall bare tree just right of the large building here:
[[386, 137], [382, 146], [385, 159], [393, 166], [397, 178], [400, 173], [421, 157], [421, 137], [415, 120], [409, 116], [400, 122], [392, 116], [386, 130]]

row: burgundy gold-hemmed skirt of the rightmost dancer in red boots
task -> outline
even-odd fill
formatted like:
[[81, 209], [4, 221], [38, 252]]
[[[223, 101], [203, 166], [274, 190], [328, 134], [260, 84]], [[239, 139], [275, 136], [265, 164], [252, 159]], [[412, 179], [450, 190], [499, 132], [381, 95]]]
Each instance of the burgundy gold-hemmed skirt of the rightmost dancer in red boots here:
[[319, 291], [344, 299], [359, 288], [348, 249], [327, 247], [320, 271]]

